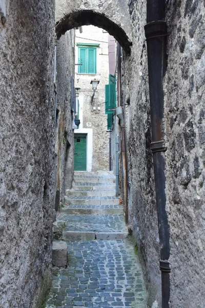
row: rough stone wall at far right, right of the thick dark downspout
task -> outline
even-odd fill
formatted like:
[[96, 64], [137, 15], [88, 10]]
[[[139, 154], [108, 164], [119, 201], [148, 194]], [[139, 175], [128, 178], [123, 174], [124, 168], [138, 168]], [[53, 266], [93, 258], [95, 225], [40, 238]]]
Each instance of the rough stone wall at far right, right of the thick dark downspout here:
[[169, 2], [165, 81], [171, 307], [204, 306], [205, 8]]

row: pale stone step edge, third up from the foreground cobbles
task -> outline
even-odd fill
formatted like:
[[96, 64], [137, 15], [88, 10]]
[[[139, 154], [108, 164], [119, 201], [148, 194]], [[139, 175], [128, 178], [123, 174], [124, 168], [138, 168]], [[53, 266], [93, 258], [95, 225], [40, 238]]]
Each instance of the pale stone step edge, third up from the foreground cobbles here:
[[[110, 199], [109, 199], [110, 198]], [[119, 199], [116, 197], [71, 197], [65, 196], [67, 204], [77, 205], [112, 205], [119, 204]]]

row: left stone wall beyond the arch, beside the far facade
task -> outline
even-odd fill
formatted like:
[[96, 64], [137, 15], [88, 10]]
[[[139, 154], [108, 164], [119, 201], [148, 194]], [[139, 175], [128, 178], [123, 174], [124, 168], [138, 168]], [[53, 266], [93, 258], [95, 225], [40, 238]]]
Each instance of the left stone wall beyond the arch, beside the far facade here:
[[[57, 41], [57, 154], [56, 191], [59, 191], [59, 204], [64, 203], [65, 189], [71, 188], [73, 178], [73, 130], [71, 112], [71, 77], [74, 79], [74, 32], [70, 30]], [[57, 205], [56, 205], [57, 208]]]

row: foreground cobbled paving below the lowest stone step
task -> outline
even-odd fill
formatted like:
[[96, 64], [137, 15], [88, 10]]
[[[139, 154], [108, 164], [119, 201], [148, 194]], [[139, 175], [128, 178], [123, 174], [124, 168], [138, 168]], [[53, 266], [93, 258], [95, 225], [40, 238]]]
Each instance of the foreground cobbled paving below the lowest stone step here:
[[46, 308], [147, 307], [139, 260], [126, 240], [67, 242], [69, 267], [53, 276]]

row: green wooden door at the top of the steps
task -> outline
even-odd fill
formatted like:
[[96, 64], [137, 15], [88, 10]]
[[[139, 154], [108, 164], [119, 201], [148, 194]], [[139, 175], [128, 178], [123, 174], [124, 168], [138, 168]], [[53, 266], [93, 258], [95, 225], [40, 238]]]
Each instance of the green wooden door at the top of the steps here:
[[86, 171], [86, 134], [75, 134], [74, 170]]

